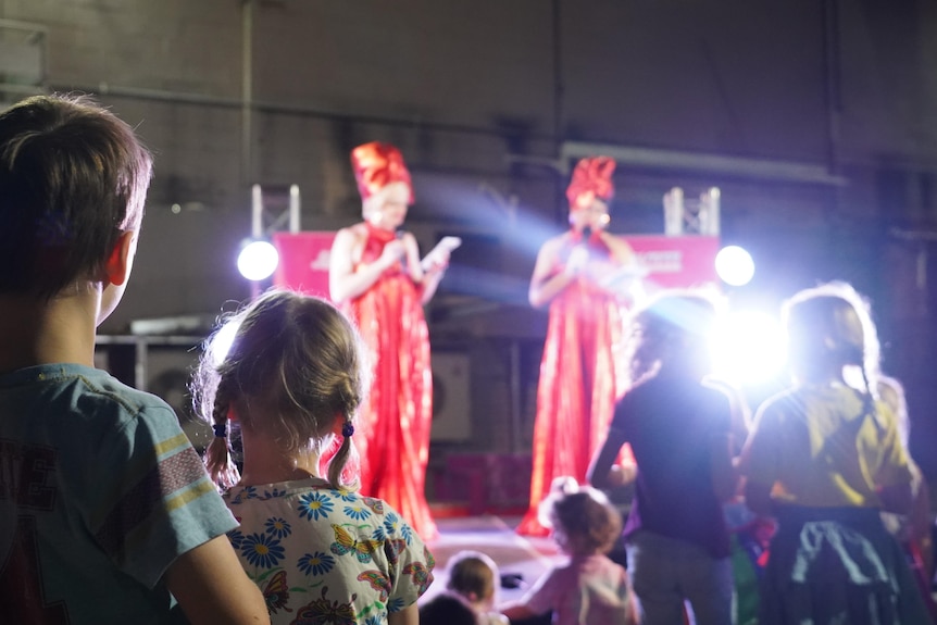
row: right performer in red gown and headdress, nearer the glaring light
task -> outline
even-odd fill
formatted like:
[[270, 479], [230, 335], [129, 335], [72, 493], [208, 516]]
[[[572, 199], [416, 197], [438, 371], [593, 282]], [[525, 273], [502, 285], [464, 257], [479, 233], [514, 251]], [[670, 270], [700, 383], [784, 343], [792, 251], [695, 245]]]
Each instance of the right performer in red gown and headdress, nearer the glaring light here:
[[530, 505], [517, 532], [546, 536], [537, 507], [553, 478], [586, 482], [604, 440], [615, 400], [624, 392], [617, 361], [627, 286], [640, 275], [630, 246], [605, 232], [615, 162], [583, 159], [566, 190], [569, 232], [549, 239], [530, 277], [530, 305], [550, 305], [540, 362]]

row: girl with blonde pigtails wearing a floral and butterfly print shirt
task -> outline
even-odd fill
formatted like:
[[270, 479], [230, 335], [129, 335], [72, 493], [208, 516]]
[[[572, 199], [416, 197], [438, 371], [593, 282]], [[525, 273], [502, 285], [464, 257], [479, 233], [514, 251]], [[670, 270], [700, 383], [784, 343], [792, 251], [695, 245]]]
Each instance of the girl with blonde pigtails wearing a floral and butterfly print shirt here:
[[[220, 353], [221, 330], [209, 340], [193, 397], [214, 426], [209, 473], [241, 523], [228, 538], [272, 622], [416, 623], [433, 555], [396, 510], [358, 495], [348, 475], [368, 388], [357, 330], [329, 302], [282, 290], [225, 325], [236, 328], [230, 349]], [[240, 475], [229, 424], [243, 443]]]

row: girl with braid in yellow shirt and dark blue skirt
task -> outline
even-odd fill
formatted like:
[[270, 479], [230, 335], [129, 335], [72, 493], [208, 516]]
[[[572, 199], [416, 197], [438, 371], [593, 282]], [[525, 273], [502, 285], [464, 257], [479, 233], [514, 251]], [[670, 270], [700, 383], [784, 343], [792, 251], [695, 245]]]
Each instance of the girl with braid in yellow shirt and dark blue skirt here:
[[[880, 516], [910, 510], [913, 476], [877, 397], [867, 311], [833, 284], [796, 293], [782, 312], [791, 385], [759, 408], [741, 458], [746, 502], [778, 521], [759, 623], [929, 623]], [[850, 370], [861, 374], [854, 386]]]

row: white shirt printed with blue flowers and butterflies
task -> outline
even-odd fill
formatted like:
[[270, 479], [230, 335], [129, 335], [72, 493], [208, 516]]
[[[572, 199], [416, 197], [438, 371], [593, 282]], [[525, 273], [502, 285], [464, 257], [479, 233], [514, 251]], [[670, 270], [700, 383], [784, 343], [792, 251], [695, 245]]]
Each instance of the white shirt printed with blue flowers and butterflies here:
[[378, 625], [416, 602], [435, 560], [385, 501], [309, 478], [234, 487], [228, 533], [279, 624]]

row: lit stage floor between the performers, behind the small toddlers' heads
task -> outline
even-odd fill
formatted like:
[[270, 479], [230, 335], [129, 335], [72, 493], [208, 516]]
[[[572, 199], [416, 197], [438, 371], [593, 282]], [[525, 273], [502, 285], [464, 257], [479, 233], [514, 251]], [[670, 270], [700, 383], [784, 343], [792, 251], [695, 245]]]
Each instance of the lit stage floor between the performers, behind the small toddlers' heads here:
[[514, 527], [520, 522], [520, 516], [496, 515], [436, 518], [439, 538], [429, 543], [436, 558], [436, 579], [421, 603], [446, 589], [449, 559], [463, 549], [487, 553], [498, 564], [502, 576], [520, 575], [517, 588], [498, 590], [498, 602], [520, 599], [544, 573], [564, 559], [552, 539], [516, 534]]

